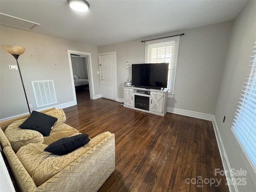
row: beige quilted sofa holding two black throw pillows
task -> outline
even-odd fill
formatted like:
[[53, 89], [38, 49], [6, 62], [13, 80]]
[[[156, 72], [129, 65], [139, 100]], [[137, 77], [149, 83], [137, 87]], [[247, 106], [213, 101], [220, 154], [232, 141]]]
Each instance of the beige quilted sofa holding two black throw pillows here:
[[58, 118], [47, 137], [18, 128], [29, 115], [0, 122], [0, 144], [20, 190], [96, 192], [115, 169], [114, 134], [104, 132], [73, 152], [55, 155], [44, 148], [80, 133], [64, 123], [63, 110], [42, 112]]

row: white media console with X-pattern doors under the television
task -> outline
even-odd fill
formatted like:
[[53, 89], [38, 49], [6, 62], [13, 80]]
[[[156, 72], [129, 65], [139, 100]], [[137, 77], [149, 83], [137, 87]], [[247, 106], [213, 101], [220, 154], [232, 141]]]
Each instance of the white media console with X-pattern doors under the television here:
[[164, 116], [167, 112], [168, 89], [124, 88], [124, 107]]

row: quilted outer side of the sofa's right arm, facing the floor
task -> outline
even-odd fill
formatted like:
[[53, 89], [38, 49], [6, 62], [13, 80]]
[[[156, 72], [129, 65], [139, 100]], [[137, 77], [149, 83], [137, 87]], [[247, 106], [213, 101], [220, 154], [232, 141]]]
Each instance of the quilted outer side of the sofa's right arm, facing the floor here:
[[115, 135], [109, 133], [109, 136], [102, 142], [77, 158], [35, 191], [96, 192], [114, 170]]

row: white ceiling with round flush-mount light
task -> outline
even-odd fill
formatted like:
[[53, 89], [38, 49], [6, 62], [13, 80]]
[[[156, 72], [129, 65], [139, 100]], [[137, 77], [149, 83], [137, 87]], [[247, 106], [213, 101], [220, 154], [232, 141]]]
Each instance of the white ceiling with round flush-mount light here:
[[233, 20], [246, 0], [0, 0], [0, 12], [41, 24], [32, 31], [95, 46]]

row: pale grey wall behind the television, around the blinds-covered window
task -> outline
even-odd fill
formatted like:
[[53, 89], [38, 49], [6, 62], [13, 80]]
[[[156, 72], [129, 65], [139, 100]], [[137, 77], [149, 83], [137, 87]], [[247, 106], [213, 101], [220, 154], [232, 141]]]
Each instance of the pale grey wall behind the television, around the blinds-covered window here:
[[126, 70], [126, 60], [144, 63], [145, 44], [141, 41], [185, 33], [180, 37], [175, 95], [168, 99], [168, 107], [213, 115], [231, 30], [232, 21], [222, 22], [100, 46], [98, 52], [116, 51], [118, 98], [123, 98], [122, 86], [132, 76], [131, 70]]

